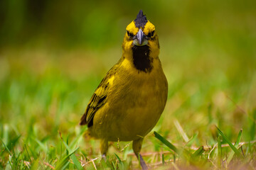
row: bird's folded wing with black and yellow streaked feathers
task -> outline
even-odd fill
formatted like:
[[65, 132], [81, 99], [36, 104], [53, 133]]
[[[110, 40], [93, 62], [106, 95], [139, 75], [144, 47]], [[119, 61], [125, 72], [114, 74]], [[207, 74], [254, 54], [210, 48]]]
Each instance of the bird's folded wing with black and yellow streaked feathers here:
[[118, 66], [119, 63], [114, 65], [114, 67], [112, 67], [112, 69], [110, 69], [110, 71], [107, 72], [105, 78], [102, 79], [102, 81], [100, 82], [100, 85], [95, 90], [95, 93], [92, 95], [92, 98], [90, 98], [89, 104], [85, 109], [85, 114], [82, 115], [80, 125], [87, 124], [88, 128], [93, 125], [93, 118], [95, 116], [95, 113], [97, 113], [97, 111], [102, 106], [104, 106], [107, 101], [107, 96], [110, 92], [110, 80], [116, 73]]

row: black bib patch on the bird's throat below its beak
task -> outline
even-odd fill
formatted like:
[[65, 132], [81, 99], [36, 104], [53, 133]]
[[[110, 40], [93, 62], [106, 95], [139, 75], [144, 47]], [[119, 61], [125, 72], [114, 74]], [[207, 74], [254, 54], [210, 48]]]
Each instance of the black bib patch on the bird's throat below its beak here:
[[132, 47], [133, 63], [136, 69], [142, 72], [151, 72], [153, 59], [149, 57], [149, 53], [148, 45], [134, 45], [134, 47]]

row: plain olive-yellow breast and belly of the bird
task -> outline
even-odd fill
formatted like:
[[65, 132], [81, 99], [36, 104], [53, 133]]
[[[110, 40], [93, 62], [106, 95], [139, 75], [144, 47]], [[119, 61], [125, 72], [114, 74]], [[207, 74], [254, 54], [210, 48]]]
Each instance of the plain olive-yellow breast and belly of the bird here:
[[133, 77], [134, 81], [129, 84], [119, 81], [129, 78], [129, 75], [116, 77], [108, 102], [93, 118], [93, 125], [89, 128], [92, 137], [108, 141], [137, 140], [156, 125], [167, 98], [164, 74]]

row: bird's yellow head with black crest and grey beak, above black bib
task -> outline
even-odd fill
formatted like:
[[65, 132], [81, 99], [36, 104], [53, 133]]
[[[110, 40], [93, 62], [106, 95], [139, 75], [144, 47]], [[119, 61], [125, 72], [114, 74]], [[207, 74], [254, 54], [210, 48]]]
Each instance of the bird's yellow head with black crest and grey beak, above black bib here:
[[151, 57], [159, 55], [159, 39], [155, 31], [155, 26], [146, 19], [143, 11], [139, 11], [137, 18], [129, 23], [124, 35], [123, 50], [131, 52], [132, 48], [149, 48]]

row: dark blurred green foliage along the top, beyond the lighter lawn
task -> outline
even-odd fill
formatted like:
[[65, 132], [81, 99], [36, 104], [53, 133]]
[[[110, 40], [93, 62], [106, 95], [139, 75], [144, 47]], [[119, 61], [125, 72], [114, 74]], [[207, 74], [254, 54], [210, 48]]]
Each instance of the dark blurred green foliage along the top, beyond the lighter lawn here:
[[[120, 43], [124, 28], [143, 9], [161, 35], [196, 39], [201, 47], [252, 55], [255, 1], [33, 1], [0, 2], [1, 46]], [[177, 36], [177, 37], [176, 37]], [[249, 42], [248, 42], [249, 40]], [[229, 42], [233, 42], [228, 45]], [[234, 48], [233, 44], [236, 47]], [[244, 49], [244, 50], [242, 50]], [[242, 50], [242, 51], [241, 51]], [[246, 52], [246, 53], [247, 53]]]

